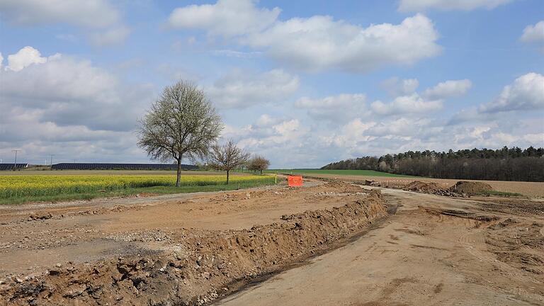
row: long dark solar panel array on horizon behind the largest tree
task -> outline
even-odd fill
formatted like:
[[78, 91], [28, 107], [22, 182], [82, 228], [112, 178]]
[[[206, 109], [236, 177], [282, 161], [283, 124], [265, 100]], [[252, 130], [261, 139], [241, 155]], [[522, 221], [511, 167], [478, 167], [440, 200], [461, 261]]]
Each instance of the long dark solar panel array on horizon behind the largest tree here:
[[[95, 164], [60, 163], [51, 166], [52, 170], [176, 170], [177, 164]], [[183, 170], [196, 170], [198, 166], [181, 164]]]

